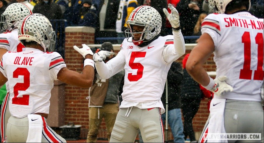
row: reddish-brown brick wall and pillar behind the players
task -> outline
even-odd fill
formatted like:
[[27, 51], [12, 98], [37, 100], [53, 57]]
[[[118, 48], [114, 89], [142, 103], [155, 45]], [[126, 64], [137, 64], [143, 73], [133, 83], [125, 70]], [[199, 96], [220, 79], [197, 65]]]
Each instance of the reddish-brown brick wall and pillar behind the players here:
[[[81, 72], [83, 67], [83, 57], [75, 51], [72, 47], [77, 45], [79, 48], [82, 47], [82, 43], [93, 44], [94, 43], [94, 29], [91, 27], [66, 27], [66, 42], [65, 42], [65, 62], [67, 67], [71, 70]], [[190, 53], [191, 47], [186, 47], [186, 54]], [[117, 48], [118, 49], [118, 48]], [[118, 50], [115, 49], [115, 52]], [[183, 57], [180, 57], [177, 61], [182, 62]], [[204, 64], [207, 71], [215, 71], [216, 66], [213, 62], [213, 55]], [[82, 125], [81, 127], [81, 138], [86, 138], [88, 132], [88, 89], [82, 89], [75, 86], [65, 86], [65, 124], [73, 122], [75, 125]], [[193, 128], [196, 132], [197, 138], [199, 138], [200, 132], [208, 118], [209, 112], [207, 109], [207, 99], [201, 101], [199, 110], [193, 119]], [[171, 133], [169, 132], [169, 140], [172, 139]], [[103, 120], [99, 129], [99, 138], [106, 137], [106, 127]]]

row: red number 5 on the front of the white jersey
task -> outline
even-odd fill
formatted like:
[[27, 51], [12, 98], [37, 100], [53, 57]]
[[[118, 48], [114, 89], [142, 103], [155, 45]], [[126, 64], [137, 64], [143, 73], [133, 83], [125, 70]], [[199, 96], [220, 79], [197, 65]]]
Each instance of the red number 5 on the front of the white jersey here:
[[145, 57], [145, 55], [146, 55], [146, 52], [132, 52], [131, 53], [128, 65], [129, 67], [131, 67], [131, 69], [138, 69], [138, 71], [136, 75], [132, 75], [132, 73], [128, 73], [127, 78], [129, 81], [138, 81], [139, 79], [142, 78], [144, 67], [139, 62], [134, 62], [134, 60], [136, 57]]

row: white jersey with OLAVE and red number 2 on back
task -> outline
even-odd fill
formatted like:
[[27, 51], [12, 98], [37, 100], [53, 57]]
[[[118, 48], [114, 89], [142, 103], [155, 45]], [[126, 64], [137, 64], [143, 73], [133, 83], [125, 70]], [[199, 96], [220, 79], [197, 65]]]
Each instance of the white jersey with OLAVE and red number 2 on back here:
[[66, 64], [57, 52], [26, 48], [3, 55], [0, 71], [10, 87], [9, 110], [12, 116], [49, 113], [51, 89], [57, 74]]

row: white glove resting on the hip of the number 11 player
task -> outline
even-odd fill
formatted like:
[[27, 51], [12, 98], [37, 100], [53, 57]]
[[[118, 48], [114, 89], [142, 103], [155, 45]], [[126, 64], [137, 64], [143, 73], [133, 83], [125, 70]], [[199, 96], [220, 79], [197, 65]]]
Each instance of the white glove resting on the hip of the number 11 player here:
[[217, 79], [214, 79], [215, 86], [210, 91], [217, 96], [221, 96], [225, 92], [232, 92], [234, 88], [228, 85], [225, 80], [227, 80], [227, 76], [220, 76]]

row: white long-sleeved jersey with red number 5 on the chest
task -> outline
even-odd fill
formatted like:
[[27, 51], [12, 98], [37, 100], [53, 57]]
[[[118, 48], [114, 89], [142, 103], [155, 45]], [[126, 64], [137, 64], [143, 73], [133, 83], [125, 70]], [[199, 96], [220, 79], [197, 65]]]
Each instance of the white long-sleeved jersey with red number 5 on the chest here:
[[[182, 36], [181, 33], [180, 35]], [[164, 113], [161, 95], [168, 71], [171, 63], [185, 53], [184, 40], [181, 36], [178, 37], [182, 38], [182, 41], [174, 41], [177, 38], [172, 35], [159, 36], [144, 47], [136, 46], [124, 39], [116, 57], [107, 63], [95, 63], [97, 72], [103, 79], [108, 79], [125, 69], [123, 101], [120, 108], [160, 107], [161, 114]], [[131, 37], [129, 40], [131, 41]]]

